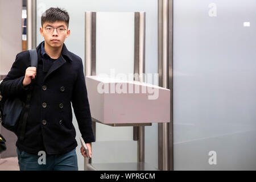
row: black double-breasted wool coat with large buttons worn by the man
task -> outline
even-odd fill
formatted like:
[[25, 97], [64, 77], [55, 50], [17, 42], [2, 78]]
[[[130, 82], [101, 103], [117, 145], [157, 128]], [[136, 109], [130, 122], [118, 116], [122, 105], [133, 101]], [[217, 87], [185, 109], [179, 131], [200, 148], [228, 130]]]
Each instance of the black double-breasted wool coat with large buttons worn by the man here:
[[[32, 87], [26, 133], [24, 140], [20, 140], [20, 119], [16, 146], [30, 154], [37, 155], [42, 150], [47, 154], [64, 154], [77, 147], [71, 104], [85, 143], [95, 141], [84, 69], [82, 59], [69, 52], [63, 44], [59, 59], [45, 72], [45, 63], [40, 54], [42, 43], [36, 48], [38, 68]], [[0, 91], [3, 97], [19, 97], [26, 101], [28, 88], [32, 85], [22, 85], [27, 67], [30, 67], [29, 52], [18, 53], [10, 72], [1, 83]]]

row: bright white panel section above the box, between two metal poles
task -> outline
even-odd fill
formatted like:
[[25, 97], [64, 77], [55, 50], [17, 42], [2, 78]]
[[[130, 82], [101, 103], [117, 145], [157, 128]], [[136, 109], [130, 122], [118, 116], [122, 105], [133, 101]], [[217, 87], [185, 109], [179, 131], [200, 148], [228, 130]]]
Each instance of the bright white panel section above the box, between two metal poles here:
[[96, 75], [134, 73], [134, 12], [97, 12]]

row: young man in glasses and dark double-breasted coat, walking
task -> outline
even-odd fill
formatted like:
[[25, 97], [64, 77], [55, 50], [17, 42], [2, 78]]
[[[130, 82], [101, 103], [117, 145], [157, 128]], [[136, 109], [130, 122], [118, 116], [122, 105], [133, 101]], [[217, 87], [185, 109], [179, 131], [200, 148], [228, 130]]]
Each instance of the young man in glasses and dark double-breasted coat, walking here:
[[[95, 141], [82, 59], [64, 44], [70, 35], [67, 11], [50, 8], [42, 15], [41, 23], [44, 42], [36, 48], [38, 68], [30, 67], [28, 51], [18, 53], [0, 91], [3, 97], [26, 101], [32, 90], [23, 140], [22, 120], [16, 131], [20, 170], [77, 170], [71, 103], [90, 157], [91, 142]], [[80, 150], [86, 157], [82, 147]], [[46, 154], [45, 161], [42, 154]]]

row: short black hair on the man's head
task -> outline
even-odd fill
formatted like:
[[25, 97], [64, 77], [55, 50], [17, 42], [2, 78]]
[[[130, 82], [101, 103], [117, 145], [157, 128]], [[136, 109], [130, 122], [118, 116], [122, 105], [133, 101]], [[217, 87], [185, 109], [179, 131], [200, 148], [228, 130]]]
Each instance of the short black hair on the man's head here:
[[51, 7], [46, 12], [44, 12], [41, 16], [41, 24], [43, 27], [43, 24], [45, 22], [53, 23], [53, 22], [65, 22], [69, 24], [69, 15], [68, 12], [65, 11], [64, 9], [60, 9], [59, 7]]

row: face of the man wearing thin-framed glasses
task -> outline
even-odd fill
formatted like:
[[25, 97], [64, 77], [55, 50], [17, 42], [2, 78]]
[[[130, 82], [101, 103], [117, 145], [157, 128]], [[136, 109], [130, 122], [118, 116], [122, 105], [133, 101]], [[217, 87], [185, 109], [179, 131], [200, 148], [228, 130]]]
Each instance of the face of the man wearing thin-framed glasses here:
[[[64, 30], [64, 31], [63, 31]], [[45, 22], [40, 27], [40, 34], [44, 37], [44, 41], [50, 47], [61, 47], [65, 39], [70, 35], [67, 24], [65, 22]]]

